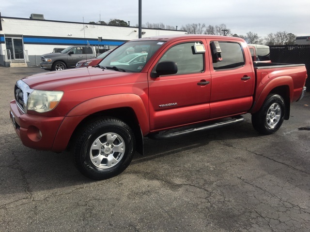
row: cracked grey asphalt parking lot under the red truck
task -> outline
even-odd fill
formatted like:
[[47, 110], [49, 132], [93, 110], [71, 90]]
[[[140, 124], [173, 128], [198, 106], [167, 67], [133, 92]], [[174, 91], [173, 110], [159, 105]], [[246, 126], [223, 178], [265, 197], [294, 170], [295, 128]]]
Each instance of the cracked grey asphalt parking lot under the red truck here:
[[0, 67], [0, 232], [310, 231], [310, 95], [273, 135], [245, 122], [145, 139], [120, 175], [92, 181], [68, 152], [22, 145], [9, 116], [16, 80]]

